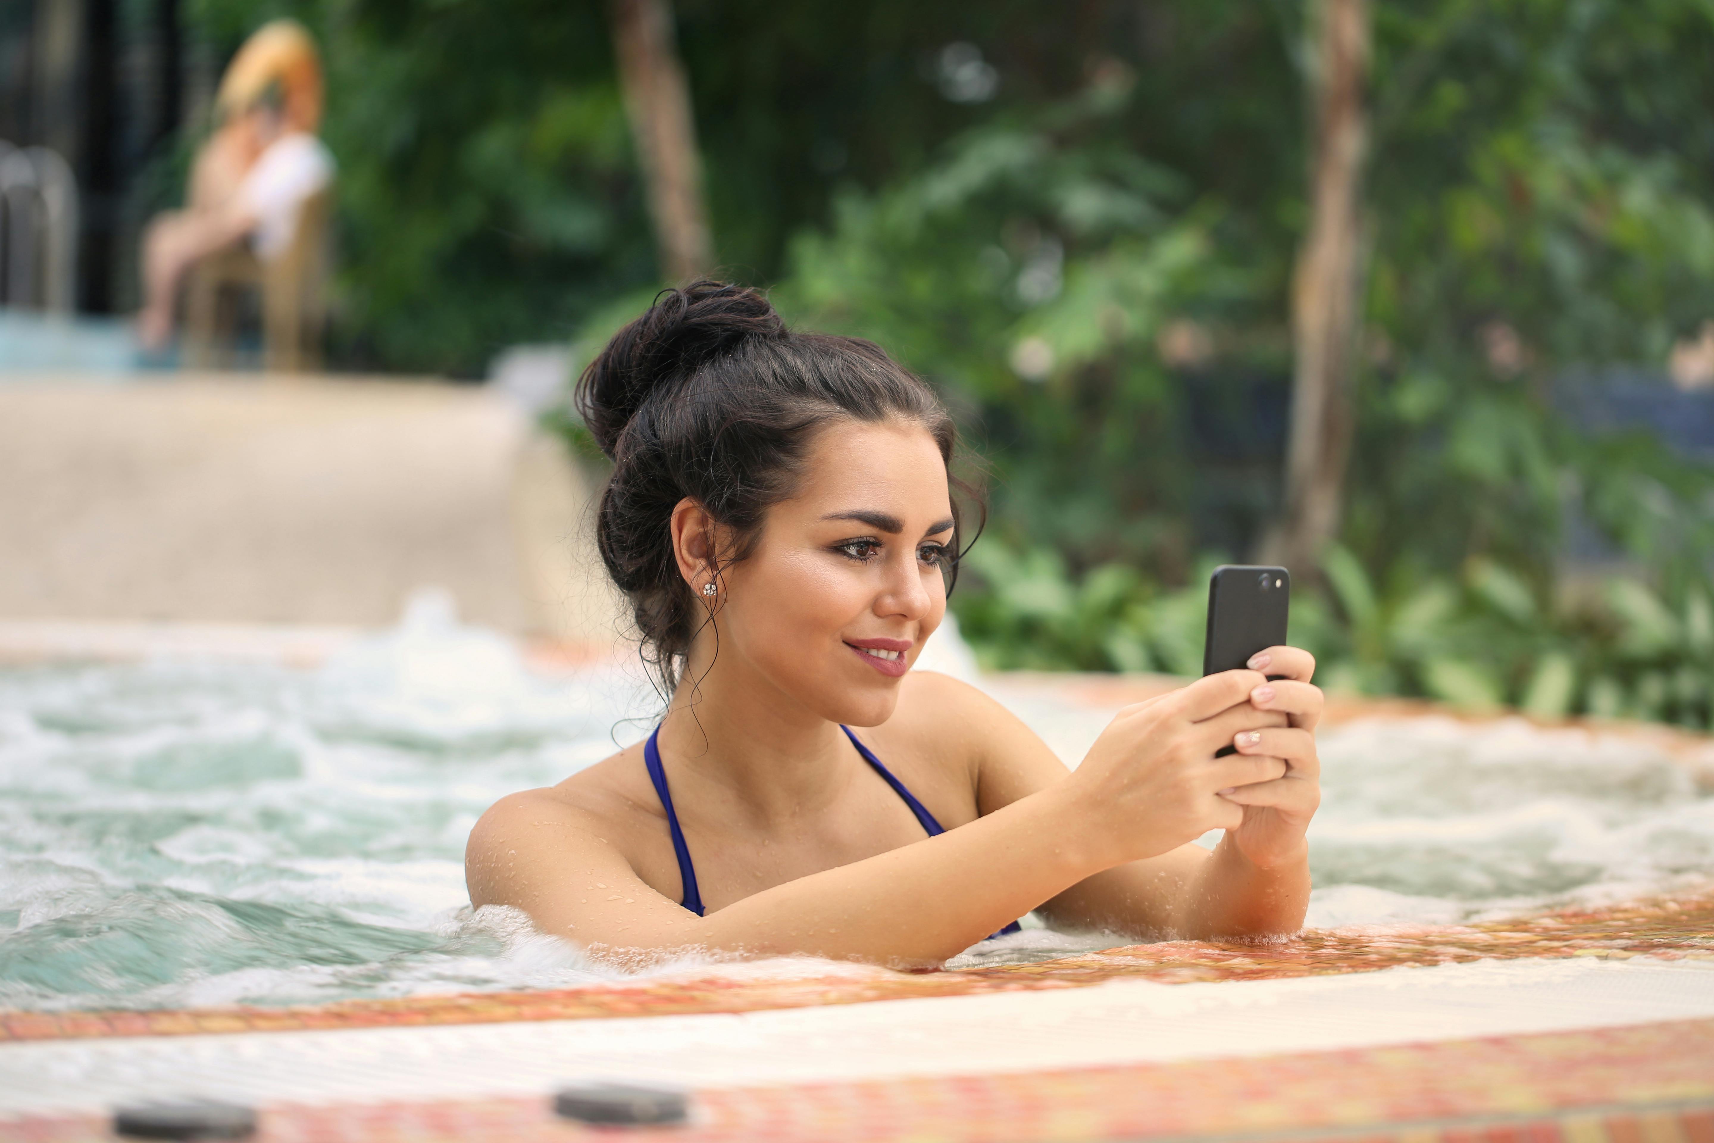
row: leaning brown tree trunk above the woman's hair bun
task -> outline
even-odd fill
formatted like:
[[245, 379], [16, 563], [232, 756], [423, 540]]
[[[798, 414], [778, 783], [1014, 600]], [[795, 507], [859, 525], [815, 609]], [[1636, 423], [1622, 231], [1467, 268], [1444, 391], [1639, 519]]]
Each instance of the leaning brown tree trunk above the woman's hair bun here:
[[610, 0], [619, 82], [643, 165], [655, 245], [667, 281], [713, 269], [703, 163], [696, 151], [691, 91], [679, 62], [667, 0]]

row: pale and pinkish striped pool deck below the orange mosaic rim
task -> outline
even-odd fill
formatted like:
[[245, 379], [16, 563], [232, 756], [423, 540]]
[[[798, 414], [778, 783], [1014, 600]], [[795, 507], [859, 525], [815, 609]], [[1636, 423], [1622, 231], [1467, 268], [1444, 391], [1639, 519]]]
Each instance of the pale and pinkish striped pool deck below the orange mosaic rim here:
[[1705, 1143], [1714, 970], [1539, 968], [14, 1044], [0, 1138], [106, 1138], [113, 1105], [195, 1097], [257, 1107], [269, 1140], [566, 1138], [552, 1092], [602, 1078], [692, 1092], [687, 1140]]

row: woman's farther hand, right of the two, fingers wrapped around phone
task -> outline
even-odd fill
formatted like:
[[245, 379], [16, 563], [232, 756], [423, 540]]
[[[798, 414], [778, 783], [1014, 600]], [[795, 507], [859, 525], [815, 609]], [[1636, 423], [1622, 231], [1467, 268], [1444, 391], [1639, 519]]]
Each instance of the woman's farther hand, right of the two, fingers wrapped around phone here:
[[1274, 869], [1304, 855], [1304, 833], [1321, 804], [1315, 727], [1321, 721], [1323, 697], [1321, 689], [1309, 684], [1315, 656], [1308, 651], [1274, 646], [1251, 658], [1250, 667], [1274, 677], [1250, 692], [1253, 716], [1284, 720], [1246, 728], [1232, 745], [1241, 756], [1284, 768], [1284, 773], [1265, 781], [1232, 783], [1220, 790], [1220, 799], [1243, 807], [1243, 821], [1232, 829], [1238, 850], [1258, 867]]

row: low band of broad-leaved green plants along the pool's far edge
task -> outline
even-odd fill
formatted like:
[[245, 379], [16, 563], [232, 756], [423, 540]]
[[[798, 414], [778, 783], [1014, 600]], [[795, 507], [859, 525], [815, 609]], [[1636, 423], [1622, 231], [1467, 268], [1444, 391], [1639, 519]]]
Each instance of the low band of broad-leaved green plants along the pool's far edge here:
[[[1164, 589], [1123, 564], [1073, 579], [1049, 548], [972, 548], [975, 593], [956, 598], [963, 634], [991, 668], [1202, 670], [1207, 566]], [[1714, 725], [1714, 603], [1695, 584], [1666, 598], [1613, 576], [1541, 600], [1491, 560], [1459, 577], [1375, 584], [1344, 547], [1327, 554], [1332, 605], [1292, 601], [1291, 641], [1320, 660], [1333, 692], [1419, 694], [1472, 711], [1515, 706]]]

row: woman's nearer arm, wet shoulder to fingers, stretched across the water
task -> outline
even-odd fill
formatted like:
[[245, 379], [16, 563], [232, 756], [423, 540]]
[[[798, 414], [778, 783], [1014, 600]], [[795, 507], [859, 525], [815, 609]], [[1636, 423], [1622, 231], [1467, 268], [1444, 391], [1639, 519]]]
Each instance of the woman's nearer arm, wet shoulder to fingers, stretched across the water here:
[[471, 831], [471, 903], [514, 905], [550, 934], [614, 951], [713, 948], [888, 965], [939, 963], [1087, 877], [1176, 848], [1243, 811], [1219, 790], [1270, 759], [1214, 757], [1265, 725], [1255, 672], [1210, 675], [1123, 711], [1076, 773], [979, 821], [764, 889], [696, 917], [648, 888], [602, 821], [548, 792], [512, 795]]

